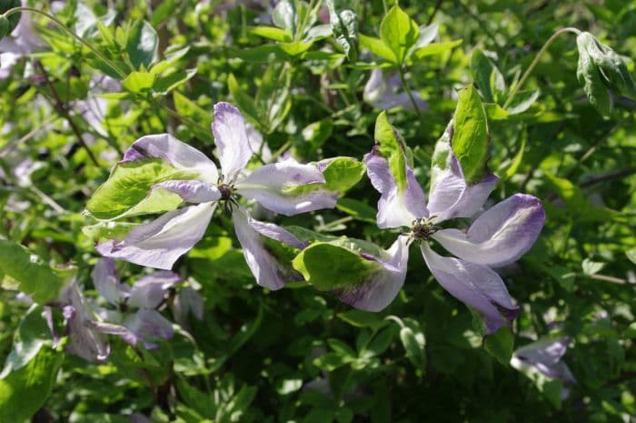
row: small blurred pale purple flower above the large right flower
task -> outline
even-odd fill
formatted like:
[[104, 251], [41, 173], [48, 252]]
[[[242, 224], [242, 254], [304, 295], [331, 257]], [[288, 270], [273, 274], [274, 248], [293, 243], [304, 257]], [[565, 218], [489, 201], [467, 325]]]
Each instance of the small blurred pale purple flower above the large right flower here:
[[[364, 86], [363, 99], [378, 109], [403, 107], [406, 110], [413, 110], [409, 94], [405, 91], [398, 92], [401, 86], [402, 83], [397, 76], [385, 77], [381, 69], [373, 69]], [[429, 105], [422, 99], [420, 93], [412, 90], [411, 95], [420, 110], [428, 110]]]

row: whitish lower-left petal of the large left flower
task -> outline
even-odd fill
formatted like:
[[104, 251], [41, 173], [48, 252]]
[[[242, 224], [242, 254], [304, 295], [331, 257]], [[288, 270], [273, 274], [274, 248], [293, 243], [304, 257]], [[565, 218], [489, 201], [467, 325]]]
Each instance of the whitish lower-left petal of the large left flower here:
[[121, 258], [140, 266], [170, 270], [177, 258], [204, 237], [214, 203], [187, 206], [134, 227], [122, 241], [95, 246], [105, 257]]

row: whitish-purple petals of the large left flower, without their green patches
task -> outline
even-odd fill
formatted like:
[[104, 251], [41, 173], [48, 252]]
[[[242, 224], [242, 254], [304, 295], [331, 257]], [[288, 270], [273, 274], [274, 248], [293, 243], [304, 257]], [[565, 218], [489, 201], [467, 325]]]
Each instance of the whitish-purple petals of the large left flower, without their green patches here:
[[[333, 208], [337, 193], [323, 188], [323, 173], [316, 165], [303, 165], [293, 159], [256, 168], [247, 176], [247, 166], [253, 151], [250, 148], [243, 116], [228, 103], [214, 106], [212, 126], [222, 175], [209, 158], [168, 134], [144, 136], [134, 142], [121, 163], [147, 158], [160, 158], [179, 170], [194, 173], [190, 180], [169, 180], [152, 187], [180, 196], [187, 206], [175, 209], [151, 222], [134, 227], [123, 240], [108, 240], [96, 246], [105, 257], [122, 258], [129, 262], [162, 269], [173, 267], [204, 236], [217, 205], [232, 210], [236, 235], [243, 255], [259, 285], [271, 289], [283, 287], [286, 277], [296, 277], [283, 271], [283, 265], [264, 247], [262, 237], [293, 237], [280, 227], [261, 228], [267, 224], [249, 216], [237, 206], [236, 196], [258, 201], [276, 213], [292, 216], [299, 213]], [[307, 186], [313, 189], [294, 190]], [[300, 241], [293, 240], [296, 245]]]

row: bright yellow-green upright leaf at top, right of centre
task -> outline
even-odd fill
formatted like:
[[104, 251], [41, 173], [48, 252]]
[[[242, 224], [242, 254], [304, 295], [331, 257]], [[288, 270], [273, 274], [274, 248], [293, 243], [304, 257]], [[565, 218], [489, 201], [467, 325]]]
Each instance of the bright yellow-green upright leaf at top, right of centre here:
[[401, 65], [407, 52], [420, 36], [420, 28], [399, 5], [394, 5], [384, 16], [380, 25], [380, 37], [389, 47], [393, 56], [389, 59], [395, 65]]

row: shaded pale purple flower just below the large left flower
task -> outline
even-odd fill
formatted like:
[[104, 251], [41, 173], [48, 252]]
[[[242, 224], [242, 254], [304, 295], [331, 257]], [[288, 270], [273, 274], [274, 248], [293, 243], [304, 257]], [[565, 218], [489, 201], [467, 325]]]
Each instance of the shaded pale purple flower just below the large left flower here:
[[[102, 258], [95, 265], [92, 276], [97, 292], [111, 305], [118, 307], [118, 310], [98, 310], [101, 320], [93, 322], [97, 330], [122, 337], [132, 346], [142, 342], [148, 349], [157, 347], [153, 342], [155, 339], [173, 337], [172, 323], [156, 308], [164, 302], [167, 290], [181, 281], [179, 275], [159, 271], [142, 277], [131, 287], [119, 281], [114, 260]], [[133, 309], [136, 311], [130, 313]]]

